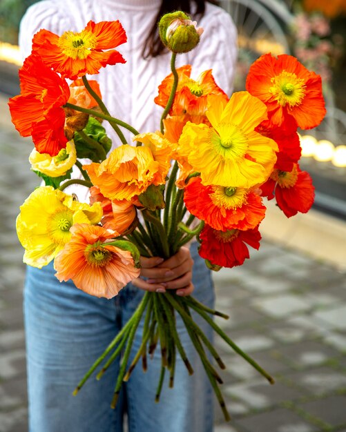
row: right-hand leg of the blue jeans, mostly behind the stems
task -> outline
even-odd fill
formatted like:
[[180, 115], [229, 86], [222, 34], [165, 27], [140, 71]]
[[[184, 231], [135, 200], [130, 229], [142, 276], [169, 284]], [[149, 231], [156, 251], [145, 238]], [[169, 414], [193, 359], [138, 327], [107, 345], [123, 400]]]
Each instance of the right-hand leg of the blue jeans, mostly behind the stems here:
[[[195, 261], [193, 297], [212, 307], [214, 290], [210, 271], [206, 268], [204, 260], [199, 257], [195, 245], [191, 246], [191, 254]], [[142, 295], [143, 293], [138, 291], [137, 295], [128, 300], [123, 310], [124, 321], [131, 316]], [[204, 333], [212, 339], [210, 326], [195, 314], [193, 318]], [[133, 344], [132, 357], [140, 346], [142, 328], [143, 322]], [[180, 319], [177, 319], [177, 329], [194, 373], [192, 376], [187, 373], [177, 353], [174, 388], [169, 389], [167, 376], [169, 374], [166, 373], [160, 402], [156, 404], [155, 392], [161, 370], [160, 348], [157, 348], [153, 360], [148, 359], [146, 373], [142, 371], [139, 362], [126, 383], [129, 432], [211, 432], [213, 430], [214, 400], [209, 380]]]

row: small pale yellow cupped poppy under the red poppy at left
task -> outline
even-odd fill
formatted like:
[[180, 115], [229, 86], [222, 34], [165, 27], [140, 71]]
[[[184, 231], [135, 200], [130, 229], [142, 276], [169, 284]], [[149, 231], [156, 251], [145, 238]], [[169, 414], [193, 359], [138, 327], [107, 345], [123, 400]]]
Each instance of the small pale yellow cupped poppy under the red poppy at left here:
[[77, 160], [75, 143], [68, 141], [66, 148], [59, 151], [56, 156], [48, 153], [39, 153], [35, 148], [29, 156], [29, 161], [33, 170], [39, 171], [49, 177], [60, 177], [75, 165]]

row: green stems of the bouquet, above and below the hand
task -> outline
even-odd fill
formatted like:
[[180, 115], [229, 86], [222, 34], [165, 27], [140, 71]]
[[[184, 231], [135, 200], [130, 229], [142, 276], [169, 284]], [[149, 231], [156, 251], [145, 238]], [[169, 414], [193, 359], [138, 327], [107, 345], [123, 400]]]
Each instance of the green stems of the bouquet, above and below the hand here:
[[[163, 120], [171, 108], [177, 88], [178, 77], [175, 70], [174, 53], [171, 59], [171, 70], [173, 72], [174, 80], [168, 104], [162, 115], [162, 133], [164, 132]], [[81, 112], [87, 112], [95, 117], [106, 119], [109, 121], [110, 125], [113, 126], [123, 144], [126, 144], [126, 139], [124, 138], [119, 126], [127, 128], [135, 135], [138, 134], [137, 130], [133, 127], [123, 121], [111, 117], [106, 106], [104, 106], [102, 99], [100, 99], [95, 92], [93, 92], [93, 89], [90, 88], [86, 77], [83, 77], [83, 81], [87, 90], [90, 92], [90, 95], [98, 102], [99, 108], [101, 108], [102, 112], [100, 113], [86, 108], [81, 108], [72, 104], [66, 104], [66, 106]], [[91, 144], [93, 143], [90, 142], [90, 145]], [[98, 143], [95, 143], [95, 146], [97, 144]], [[140, 145], [140, 143], [137, 143], [137, 145]], [[160, 256], [165, 259], [171, 257], [177, 253], [184, 244], [190, 242], [193, 237], [198, 238], [198, 235], [204, 226], [204, 223], [200, 222], [195, 229], [191, 229], [190, 226], [195, 219], [193, 215], [185, 218], [186, 222], [182, 222], [184, 215], [186, 214], [186, 207], [184, 206], [183, 190], [180, 190], [175, 186], [177, 171], [178, 165], [175, 161], [169, 180], [166, 183], [166, 190], [164, 192], [164, 208], [158, 208], [155, 210], [146, 208], [142, 210], [144, 222], [139, 222], [135, 230], [126, 236], [128, 240], [137, 246], [140, 254], [144, 257]], [[193, 177], [196, 174], [198, 173], [192, 174], [190, 177]], [[186, 179], [186, 183], [188, 181], [189, 178]], [[79, 183], [85, 184], [85, 186], [92, 186], [85, 172], [84, 180], [79, 180]], [[67, 181], [62, 185], [62, 187], [66, 187], [68, 184], [69, 182]], [[251, 357], [249, 357], [249, 355], [244, 353], [244, 351], [242, 351], [213, 320], [213, 316], [227, 319], [227, 315], [204, 306], [204, 304], [201, 304], [191, 296], [180, 297], [175, 294], [174, 290], [171, 290], [166, 293], [144, 293], [142, 301], [137, 306], [135, 313], [133, 313], [130, 320], [128, 320], [122, 330], [119, 331], [114, 340], [108, 345], [104, 353], [102, 353], [93, 366], [90, 367], [89, 371], [77, 385], [73, 394], [77, 395], [81, 387], [94, 373], [98, 366], [104, 363], [96, 375], [97, 380], [104, 375], [110, 364], [112, 364], [117, 357], [121, 357], [119, 373], [117, 375], [117, 382], [115, 384], [113, 400], [111, 402], [111, 406], [115, 408], [122, 384], [130, 379], [131, 373], [133, 372], [133, 369], [135, 369], [136, 364], [142, 358], [142, 367], [143, 370], [146, 371], [148, 367], [147, 355], [152, 356], [155, 349], [158, 349], [157, 347], [160, 346], [162, 366], [155, 397], [156, 402], [159, 402], [166, 371], [169, 373], [169, 386], [173, 387], [177, 353], [180, 355], [189, 374], [193, 374], [193, 366], [186, 356], [184, 346], [182, 346], [179, 334], [177, 333], [176, 320], [177, 316], [179, 316], [186, 326], [191, 343], [200, 356], [206, 375], [209, 377], [213, 391], [215, 392], [222, 412], [224, 413], [224, 418], [227, 421], [230, 420], [219, 387], [220, 384], [222, 384], [222, 379], [214, 366], [215, 362], [220, 369], [224, 369], [224, 363], [208, 337], [206, 337], [198, 324], [196, 324], [195, 320], [193, 320], [193, 313], [200, 315], [200, 317], [202, 317], [203, 320], [205, 320], [213, 330], [218, 333], [218, 335], [220, 335], [220, 337], [222, 337], [222, 339], [231, 348], [233, 348], [234, 351], [236, 351], [236, 353], [241, 355], [244, 360], [249, 362], [249, 364], [251, 364], [261, 375], [273, 384], [273, 378]], [[131, 364], [128, 364], [135, 333], [141, 320], [144, 320], [142, 343], [140, 344], [137, 353], [135, 353], [133, 361]]]

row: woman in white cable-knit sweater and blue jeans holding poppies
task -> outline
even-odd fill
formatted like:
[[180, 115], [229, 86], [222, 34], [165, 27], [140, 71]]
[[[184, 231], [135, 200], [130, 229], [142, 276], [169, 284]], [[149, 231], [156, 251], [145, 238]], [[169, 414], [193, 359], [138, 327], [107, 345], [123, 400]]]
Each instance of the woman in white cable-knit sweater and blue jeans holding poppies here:
[[[157, 48], [155, 27], [158, 17], [179, 9], [197, 17], [204, 35], [193, 52], [177, 57], [176, 66], [192, 64], [196, 77], [202, 70], [213, 68], [216, 82], [229, 94], [236, 61], [236, 31], [227, 12], [201, 0], [40, 1], [28, 9], [21, 22], [21, 51], [23, 57], [30, 54], [32, 35], [41, 28], [61, 35], [66, 30], [81, 31], [90, 19], [119, 19], [128, 36], [127, 43], [119, 47], [126, 63], [108, 66], [93, 78], [99, 81], [104, 102], [114, 117], [133, 124], [140, 132], [155, 131], [162, 108], [155, 106], [153, 98], [170, 72], [170, 55]], [[131, 142], [131, 135], [126, 137]], [[119, 142], [114, 140], [114, 145]], [[74, 192], [80, 200], [85, 199], [81, 188]], [[212, 430], [212, 391], [180, 322], [180, 337], [195, 373], [189, 377], [177, 358], [174, 389], [164, 384], [160, 404], [154, 402], [160, 355], [149, 362], [145, 374], [137, 366], [123, 386], [115, 410], [109, 405], [119, 367], [116, 362], [102, 380], [92, 378], [77, 397], [72, 395], [80, 377], [131, 316], [145, 290], [177, 288], [178, 294], [189, 295], [195, 287], [193, 294], [198, 300], [213, 304], [211, 276], [195, 245], [191, 252], [182, 248], [166, 262], [154, 257], [142, 259], [142, 264], [141, 276], [153, 279], [153, 283], [142, 277], [136, 279], [112, 300], [91, 297], [72, 283], [60, 284], [52, 266], [28, 268], [24, 312], [30, 432], [120, 432], [124, 412], [128, 413], [130, 432]], [[210, 333], [209, 328], [204, 331]], [[139, 334], [133, 353], [140, 339]]]

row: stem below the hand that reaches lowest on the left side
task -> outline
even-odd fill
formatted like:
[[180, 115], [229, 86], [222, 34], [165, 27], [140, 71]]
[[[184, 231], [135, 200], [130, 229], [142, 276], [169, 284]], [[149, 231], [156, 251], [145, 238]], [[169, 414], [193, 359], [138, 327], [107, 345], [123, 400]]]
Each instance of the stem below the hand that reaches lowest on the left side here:
[[148, 291], [146, 291], [146, 293], [144, 294], [144, 297], [142, 298], [142, 302], [140, 302], [139, 306], [137, 307], [137, 309], [135, 310], [135, 312], [133, 313], [132, 319], [133, 317], [135, 317], [133, 319], [133, 323], [131, 325], [131, 331], [128, 335], [128, 339], [127, 339], [127, 344], [126, 344], [126, 348], [124, 351], [124, 355], [122, 357], [122, 364], [120, 365], [120, 369], [119, 369], [119, 373], [117, 376], [117, 382], [115, 383], [115, 389], [114, 389], [114, 395], [113, 395], [113, 400], [110, 404], [111, 408], [115, 408], [116, 404], [117, 404], [117, 400], [119, 397], [119, 393], [120, 393], [120, 389], [122, 388], [122, 381], [124, 379], [124, 375], [126, 372], [126, 366], [127, 366], [127, 362], [128, 362], [128, 357], [130, 357], [130, 353], [131, 353], [131, 347], [133, 344], [133, 338], [135, 337], [135, 333], [137, 330], [138, 325], [140, 324], [140, 320], [142, 318], [142, 315], [144, 313], [144, 310], [146, 308], [146, 305], [148, 304], [148, 300], [149, 300], [149, 295], [150, 293]]

